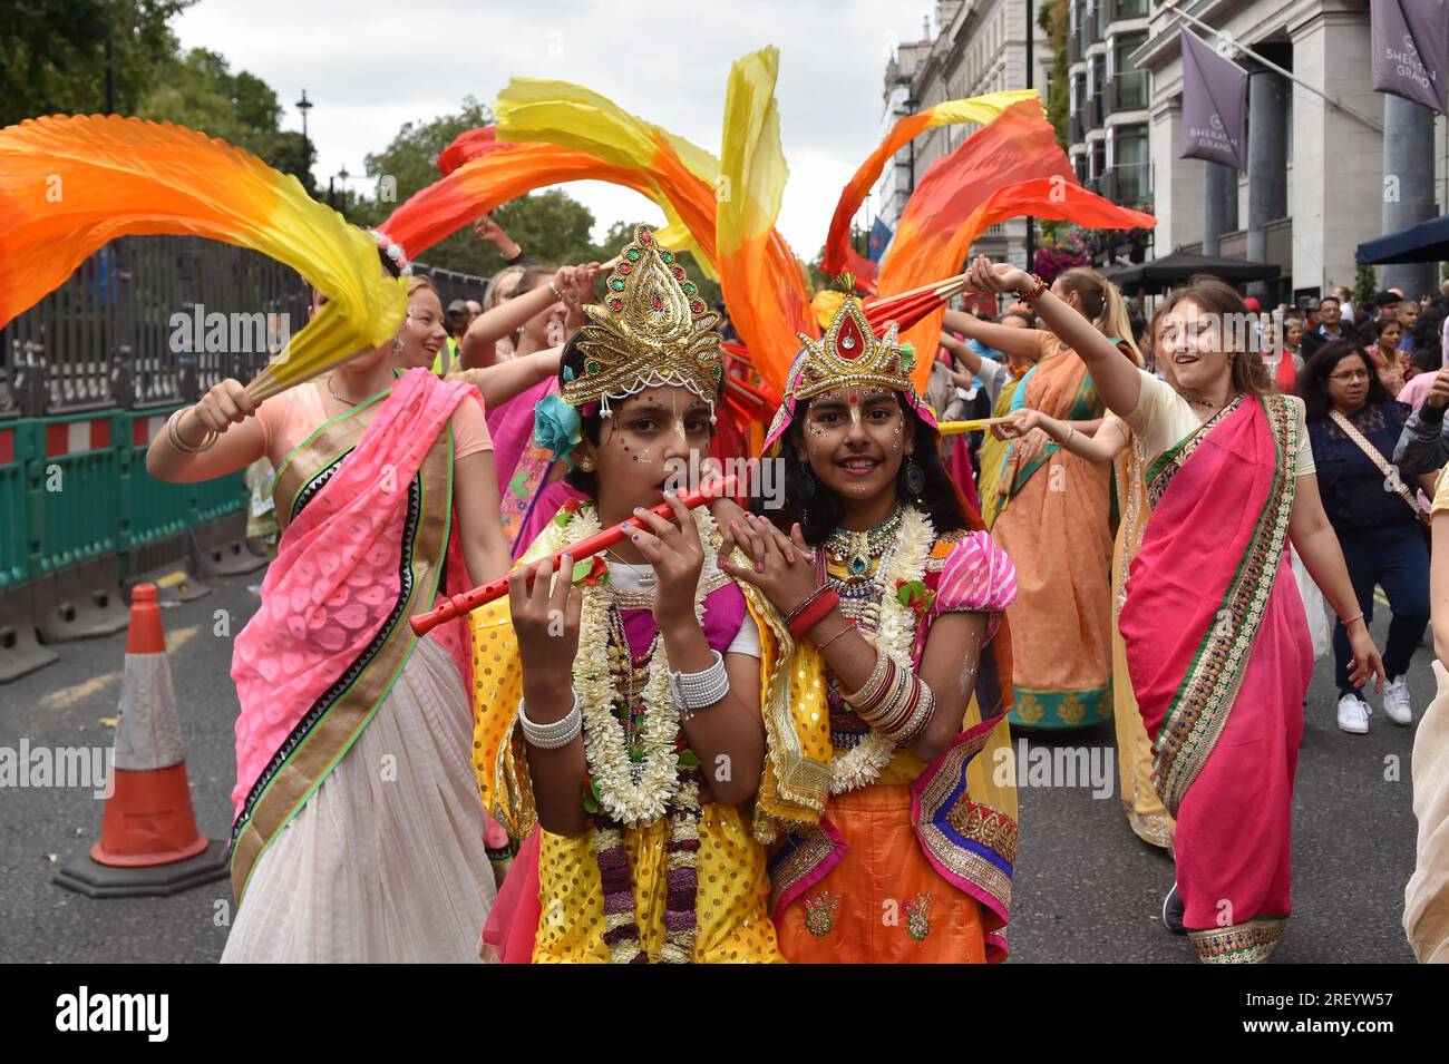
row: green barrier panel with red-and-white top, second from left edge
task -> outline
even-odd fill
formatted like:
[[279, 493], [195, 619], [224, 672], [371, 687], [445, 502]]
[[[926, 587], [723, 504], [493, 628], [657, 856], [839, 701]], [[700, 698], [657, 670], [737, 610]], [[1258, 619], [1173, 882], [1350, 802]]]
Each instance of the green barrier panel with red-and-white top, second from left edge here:
[[25, 463], [32, 576], [119, 550], [122, 414], [70, 414], [35, 423]]

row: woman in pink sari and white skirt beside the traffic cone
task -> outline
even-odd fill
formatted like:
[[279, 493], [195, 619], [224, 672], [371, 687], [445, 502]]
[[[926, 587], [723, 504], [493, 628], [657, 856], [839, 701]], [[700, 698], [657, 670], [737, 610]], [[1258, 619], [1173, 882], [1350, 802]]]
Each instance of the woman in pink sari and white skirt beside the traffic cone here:
[[267, 456], [278, 554], [236, 637], [238, 777], [223, 961], [467, 961], [494, 896], [469, 772], [464, 621], [413, 636], [439, 594], [503, 573], [478, 395], [426, 369], [442, 340], [414, 282], [397, 337], [259, 408], [223, 381], [172, 415], [152, 476]]

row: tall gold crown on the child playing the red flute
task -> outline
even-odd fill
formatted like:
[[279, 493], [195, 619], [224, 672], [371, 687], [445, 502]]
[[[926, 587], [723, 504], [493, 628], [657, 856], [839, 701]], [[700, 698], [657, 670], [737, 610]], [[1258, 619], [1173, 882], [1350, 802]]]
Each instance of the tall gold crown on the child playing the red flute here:
[[603, 304], [588, 304], [588, 324], [578, 347], [584, 372], [564, 385], [564, 401], [580, 407], [598, 401], [610, 415], [609, 400], [645, 388], [680, 385], [710, 402], [724, 375], [720, 366], [719, 314], [700, 298], [700, 288], [661, 248], [645, 226], [604, 284]]

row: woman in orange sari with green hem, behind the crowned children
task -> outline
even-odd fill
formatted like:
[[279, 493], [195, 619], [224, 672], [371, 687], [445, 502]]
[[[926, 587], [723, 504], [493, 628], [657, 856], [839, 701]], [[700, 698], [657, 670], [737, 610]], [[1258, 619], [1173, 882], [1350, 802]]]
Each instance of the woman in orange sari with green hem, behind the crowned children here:
[[[1085, 268], [1052, 282], [1068, 303], [1140, 362], [1122, 294]], [[968, 336], [1036, 365], [997, 397], [994, 415], [1035, 410], [1078, 433], [1101, 424], [1103, 404], [1072, 350], [1052, 333], [977, 321]], [[981, 511], [1011, 556], [1011, 724], [1081, 728], [1111, 717], [1111, 528], [1107, 465], [1051, 442], [1040, 428], [982, 447]]]

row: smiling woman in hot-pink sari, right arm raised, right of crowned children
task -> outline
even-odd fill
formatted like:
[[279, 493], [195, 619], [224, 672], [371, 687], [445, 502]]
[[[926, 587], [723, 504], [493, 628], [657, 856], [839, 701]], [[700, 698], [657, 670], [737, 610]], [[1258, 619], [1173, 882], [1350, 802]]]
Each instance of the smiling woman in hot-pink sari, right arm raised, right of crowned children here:
[[1348, 627], [1355, 686], [1384, 683], [1319, 499], [1303, 401], [1272, 392], [1250, 336], [1232, 329], [1249, 321], [1246, 305], [1216, 278], [1168, 297], [1158, 356], [1174, 388], [1026, 272], [984, 258], [969, 272], [1033, 300], [1143, 444], [1152, 515], [1120, 628], [1153, 786], [1177, 818], [1164, 922], [1204, 961], [1264, 961], [1293, 908], [1293, 783], [1313, 666], [1290, 540]]

